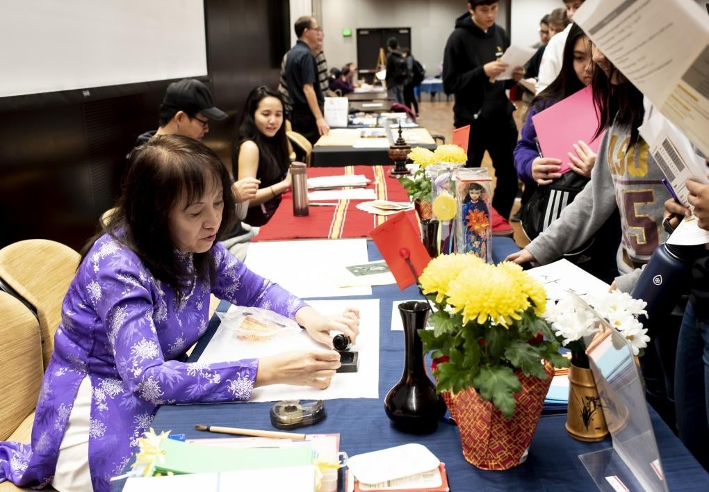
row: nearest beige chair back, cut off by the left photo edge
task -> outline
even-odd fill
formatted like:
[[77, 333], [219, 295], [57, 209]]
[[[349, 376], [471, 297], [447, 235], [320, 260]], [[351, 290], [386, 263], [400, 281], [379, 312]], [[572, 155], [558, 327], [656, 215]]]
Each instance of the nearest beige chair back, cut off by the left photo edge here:
[[[35, 315], [0, 291], [0, 441], [30, 442], [34, 409], [42, 386], [42, 342]], [[0, 490], [14, 488], [0, 483]]]

